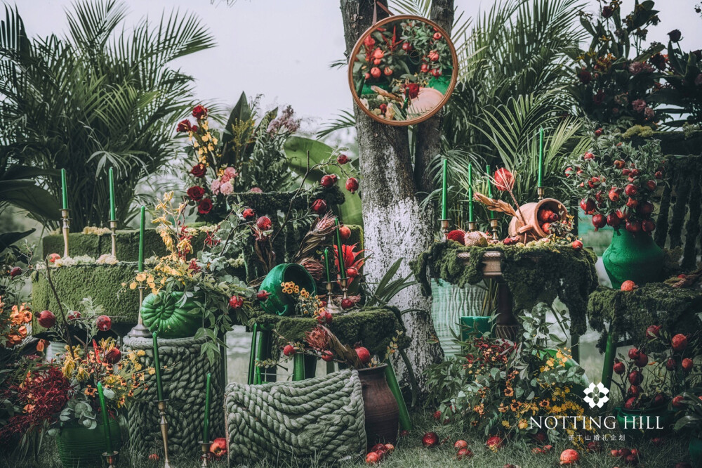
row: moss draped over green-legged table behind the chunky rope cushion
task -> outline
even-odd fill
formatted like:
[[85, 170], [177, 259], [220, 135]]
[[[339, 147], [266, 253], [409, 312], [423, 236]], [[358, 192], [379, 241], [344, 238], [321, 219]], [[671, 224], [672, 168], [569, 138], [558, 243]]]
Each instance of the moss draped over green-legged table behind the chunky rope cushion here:
[[[359, 311], [335, 313], [329, 329], [343, 344], [360, 343], [371, 354], [377, 354], [382, 359], [390, 341], [397, 335], [397, 330], [404, 330], [397, 318], [398, 312], [392, 308], [362, 308]], [[312, 330], [317, 325], [317, 320], [257, 311], [252, 313], [249, 326], [253, 327], [256, 323], [265, 330], [275, 330], [281, 335], [278, 344], [284, 346], [288, 342], [303, 341], [305, 332]], [[409, 337], [402, 334], [397, 344], [401, 349], [406, 348], [409, 346]]]

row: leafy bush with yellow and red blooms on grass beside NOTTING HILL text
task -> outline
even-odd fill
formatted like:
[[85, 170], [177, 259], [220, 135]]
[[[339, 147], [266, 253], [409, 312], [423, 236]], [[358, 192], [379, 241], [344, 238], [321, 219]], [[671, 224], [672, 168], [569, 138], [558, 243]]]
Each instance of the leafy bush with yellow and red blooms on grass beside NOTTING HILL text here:
[[[546, 321], [549, 311], [562, 325], [558, 311], [538, 304], [521, 316], [524, 337], [529, 339], [517, 344], [477, 336], [461, 343], [461, 357], [432, 366], [428, 385], [439, 406], [435, 418], [477, 428], [499, 443], [507, 436], [536, 441], [548, 437], [555, 442], [583, 430], [580, 424], [578, 429], [571, 426], [544, 434], [529, 424], [531, 417], [572, 421], [585, 411], [581, 396], [573, 391], [583, 382], [583, 369], [569, 365], [571, 357], [563, 343], [558, 343], [557, 349], [547, 347], [553, 338], [550, 327], [555, 325]], [[580, 443], [577, 437], [573, 440]]]

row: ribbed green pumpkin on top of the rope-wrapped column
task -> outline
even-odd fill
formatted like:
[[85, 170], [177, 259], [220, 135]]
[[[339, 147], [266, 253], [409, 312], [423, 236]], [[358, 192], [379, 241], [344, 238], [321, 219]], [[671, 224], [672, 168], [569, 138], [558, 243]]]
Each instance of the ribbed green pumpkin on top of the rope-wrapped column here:
[[183, 301], [183, 292], [171, 294], [161, 291], [149, 294], [141, 304], [141, 318], [152, 332], [161, 338], [185, 338], [194, 336], [202, 326], [202, 309], [192, 299]]

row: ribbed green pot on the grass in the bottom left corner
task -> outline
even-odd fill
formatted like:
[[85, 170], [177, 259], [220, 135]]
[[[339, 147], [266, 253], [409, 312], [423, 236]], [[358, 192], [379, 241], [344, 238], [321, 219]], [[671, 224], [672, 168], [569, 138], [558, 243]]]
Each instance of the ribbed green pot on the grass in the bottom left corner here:
[[[110, 427], [112, 450], [119, 451], [122, 445], [119, 422], [110, 420], [107, 425]], [[95, 429], [62, 427], [56, 436], [56, 447], [64, 468], [102, 467], [102, 453], [107, 451], [102, 423]]]

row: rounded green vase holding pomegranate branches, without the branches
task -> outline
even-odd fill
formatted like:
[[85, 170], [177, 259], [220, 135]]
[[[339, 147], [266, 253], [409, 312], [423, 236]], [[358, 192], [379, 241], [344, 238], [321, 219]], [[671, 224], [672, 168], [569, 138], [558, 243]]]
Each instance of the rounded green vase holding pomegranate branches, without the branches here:
[[618, 290], [626, 280], [644, 285], [661, 280], [663, 250], [650, 234], [619, 229], [602, 254], [602, 263], [614, 289]]

